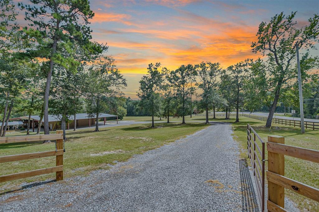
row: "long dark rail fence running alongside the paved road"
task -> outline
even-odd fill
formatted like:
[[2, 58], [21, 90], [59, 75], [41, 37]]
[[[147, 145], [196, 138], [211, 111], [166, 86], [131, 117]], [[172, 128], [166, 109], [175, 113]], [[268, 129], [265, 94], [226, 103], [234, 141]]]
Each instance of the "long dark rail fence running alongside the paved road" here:
[[[257, 119], [257, 120], [260, 120], [260, 121], [267, 121], [267, 117], [247, 115], [247, 114], [244, 114], [244, 117]], [[272, 123], [282, 124], [282, 125], [289, 125], [289, 126], [301, 128], [301, 121], [300, 120], [288, 120], [288, 119], [282, 119], [282, 118], [273, 118], [272, 119]], [[319, 130], [319, 122], [308, 122], [308, 121], [305, 121], [304, 123], [305, 123], [305, 128], [306, 129]]]

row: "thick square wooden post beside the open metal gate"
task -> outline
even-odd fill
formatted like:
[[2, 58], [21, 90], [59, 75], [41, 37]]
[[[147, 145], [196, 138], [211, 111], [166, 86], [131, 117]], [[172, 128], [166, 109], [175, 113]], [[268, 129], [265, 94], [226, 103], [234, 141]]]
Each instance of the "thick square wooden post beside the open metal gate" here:
[[[285, 137], [268, 136], [268, 142], [285, 144]], [[285, 155], [268, 152], [268, 171], [285, 176]], [[282, 208], [285, 208], [284, 187], [268, 180], [268, 200], [272, 201]]]

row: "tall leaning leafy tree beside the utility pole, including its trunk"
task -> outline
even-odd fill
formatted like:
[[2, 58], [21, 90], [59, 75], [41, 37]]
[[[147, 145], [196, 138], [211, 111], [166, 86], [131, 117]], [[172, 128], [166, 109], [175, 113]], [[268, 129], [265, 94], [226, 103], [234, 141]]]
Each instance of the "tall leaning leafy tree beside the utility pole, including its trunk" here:
[[[296, 58], [296, 46], [315, 48], [319, 40], [319, 16], [309, 18], [309, 24], [297, 29], [294, 21], [296, 12], [286, 16], [283, 12], [271, 18], [269, 23], [262, 22], [257, 32], [257, 41], [251, 47], [253, 52], [267, 55], [267, 82], [270, 85], [272, 103], [266, 126], [271, 125], [272, 115], [276, 109], [278, 99], [285, 89], [289, 88], [290, 80], [294, 76], [293, 62]], [[260, 75], [261, 76], [261, 75]]]

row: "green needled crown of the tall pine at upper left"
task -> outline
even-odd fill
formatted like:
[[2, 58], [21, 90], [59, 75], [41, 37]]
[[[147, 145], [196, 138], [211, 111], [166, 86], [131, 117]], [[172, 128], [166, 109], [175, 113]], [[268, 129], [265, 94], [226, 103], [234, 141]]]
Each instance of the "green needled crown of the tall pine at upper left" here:
[[[90, 55], [101, 53], [100, 45], [90, 41], [92, 37], [88, 24], [94, 13], [90, 10], [89, 1], [30, 2], [33, 5], [18, 5], [26, 11], [25, 19], [30, 22], [30, 27], [25, 27], [24, 32], [36, 42], [36, 48], [28, 49], [27, 54], [23, 55], [50, 59], [75, 72], [80, 66], [74, 58], [77, 48], [81, 48], [82, 53], [89, 58]], [[69, 54], [67, 57], [65, 52]]]

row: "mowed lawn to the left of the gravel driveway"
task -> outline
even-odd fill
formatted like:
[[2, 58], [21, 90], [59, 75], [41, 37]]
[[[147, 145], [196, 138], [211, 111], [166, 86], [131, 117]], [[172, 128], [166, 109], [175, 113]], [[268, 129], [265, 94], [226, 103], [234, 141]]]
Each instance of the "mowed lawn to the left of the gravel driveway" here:
[[[193, 124], [138, 124], [118, 127], [67, 131], [67, 140], [63, 156], [64, 178], [80, 174], [88, 174], [96, 169], [108, 169], [111, 164], [126, 161], [134, 154], [158, 148], [186, 135], [204, 129], [206, 125]], [[18, 135], [22, 133], [11, 133]], [[0, 156], [43, 152], [55, 150], [55, 143], [43, 144], [39, 142], [22, 142], [0, 145]], [[29, 159], [2, 163], [0, 175], [19, 173], [29, 170], [55, 166], [55, 157]], [[8, 181], [0, 184], [0, 191], [12, 189], [21, 182], [55, 179], [55, 173], [35, 177]]]

